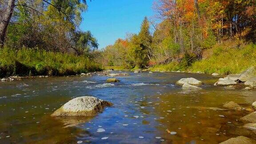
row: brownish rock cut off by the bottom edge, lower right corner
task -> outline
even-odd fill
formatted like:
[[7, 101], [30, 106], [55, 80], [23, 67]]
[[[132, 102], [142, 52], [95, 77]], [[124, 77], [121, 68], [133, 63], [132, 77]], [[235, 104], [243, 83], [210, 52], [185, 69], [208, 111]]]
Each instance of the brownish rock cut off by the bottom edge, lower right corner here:
[[256, 141], [245, 136], [237, 136], [228, 139], [220, 144], [256, 144]]

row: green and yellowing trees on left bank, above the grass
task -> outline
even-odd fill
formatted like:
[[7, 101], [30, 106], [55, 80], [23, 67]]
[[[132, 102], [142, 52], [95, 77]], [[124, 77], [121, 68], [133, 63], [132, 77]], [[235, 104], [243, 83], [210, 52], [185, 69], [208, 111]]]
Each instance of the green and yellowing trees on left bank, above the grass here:
[[0, 43], [81, 55], [98, 48], [91, 32], [78, 28], [86, 10], [85, 0], [1, 0]]

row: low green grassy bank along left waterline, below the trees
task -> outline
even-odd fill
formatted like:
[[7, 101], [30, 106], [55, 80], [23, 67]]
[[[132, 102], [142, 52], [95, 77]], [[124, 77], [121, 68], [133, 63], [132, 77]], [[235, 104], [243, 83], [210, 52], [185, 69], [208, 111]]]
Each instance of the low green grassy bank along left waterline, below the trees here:
[[12, 75], [64, 76], [100, 70], [101, 65], [84, 56], [29, 48], [0, 49], [0, 77]]

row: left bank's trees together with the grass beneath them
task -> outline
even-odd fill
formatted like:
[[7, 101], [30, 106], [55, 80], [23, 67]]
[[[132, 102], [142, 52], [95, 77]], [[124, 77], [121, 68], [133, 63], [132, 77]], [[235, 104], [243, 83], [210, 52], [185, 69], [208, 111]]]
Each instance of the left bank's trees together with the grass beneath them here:
[[100, 70], [88, 59], [98, 48], [96, 38], [79, 29], [86, 2], [0, 0], [0, 77]]

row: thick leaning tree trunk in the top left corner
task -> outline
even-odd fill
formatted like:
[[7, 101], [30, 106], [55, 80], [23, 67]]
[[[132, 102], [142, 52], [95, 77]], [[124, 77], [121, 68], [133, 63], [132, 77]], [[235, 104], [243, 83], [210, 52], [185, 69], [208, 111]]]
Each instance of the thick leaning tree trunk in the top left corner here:
[[11, 20], [13, 9], [15, 7], [15, 0], [8, 0], [8, 6], [6, 11], [3, 14], [3, 17], [0, 21], [0, 46], [4, 46], [4, 38], [6, 35], [8, 24]]

